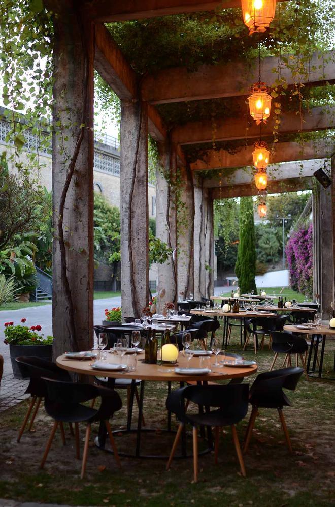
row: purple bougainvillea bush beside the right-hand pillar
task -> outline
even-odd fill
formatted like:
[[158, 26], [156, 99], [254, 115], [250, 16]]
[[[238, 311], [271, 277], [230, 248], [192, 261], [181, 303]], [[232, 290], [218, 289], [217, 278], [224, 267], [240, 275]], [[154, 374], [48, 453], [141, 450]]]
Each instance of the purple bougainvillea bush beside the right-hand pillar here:
[[292, 289], [312, 296], [313, 291], [313, 228], [294, 231], [286, 245], [286, 258]]

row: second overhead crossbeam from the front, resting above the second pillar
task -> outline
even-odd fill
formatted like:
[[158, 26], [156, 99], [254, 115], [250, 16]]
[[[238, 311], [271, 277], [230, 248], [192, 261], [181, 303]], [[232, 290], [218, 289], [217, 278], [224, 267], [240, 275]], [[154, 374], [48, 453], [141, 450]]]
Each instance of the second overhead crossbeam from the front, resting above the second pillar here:
[[[291, 58], [290, 55], [286, 55]], [[313, 53], [304, 72], [292, 77], [292, 71], [281, 64], [281, 77], [287, 84], [324, 85], [335, 82], [335, 51]], [[277, 78], [274, 68], [279, 59], [269, 56], [261, 66], [262, 81], [271, 86]], [[250, 94], [250, 86], [258, 81], [258, 61], [228, 62], [219, 65], [202, 65], [195, 72], [186, 67], [164, 69], [148, 75], [142, 83], [142, 97], [151, 104], [189, 100], [237, 97]]]

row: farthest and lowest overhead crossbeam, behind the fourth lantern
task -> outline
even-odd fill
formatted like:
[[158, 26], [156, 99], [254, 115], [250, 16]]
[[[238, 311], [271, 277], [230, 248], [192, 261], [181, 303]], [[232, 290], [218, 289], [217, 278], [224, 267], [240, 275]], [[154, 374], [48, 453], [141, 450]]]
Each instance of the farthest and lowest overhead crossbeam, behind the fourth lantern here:
[[[269, 182], [267, 192], [269, 194], [282, 194], [283, 192], [298, 192], [299, 190], [312, 190], [313, 178], [291, 178], [290, 180]], [[223, 188], [213, 188], [213, 199], [227, 199], [229, 197], [247, 197], [257, 195], [254, 183], [235, 185]]]

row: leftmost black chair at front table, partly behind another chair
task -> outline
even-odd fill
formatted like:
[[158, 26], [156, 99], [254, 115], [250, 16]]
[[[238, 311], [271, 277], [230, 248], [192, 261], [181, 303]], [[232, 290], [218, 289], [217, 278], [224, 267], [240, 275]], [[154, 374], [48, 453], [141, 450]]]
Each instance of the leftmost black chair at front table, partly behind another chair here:
[[[28, 393], [31, 396], [27, 413], [25, 414], [22, 426], [19, 430], [19, 434], [17, 437], [17, 441], [19, 442], [23, 435], [24, 429], [28, 423], [30, 414], [32, 412], [35, 403], [36, 405], [31, 416], [28, 431], [31, 431], [41, 401], [45, 397], [46, 387], [43, 380], [41, 380], [41, 377], [48, 376], [49, 378], [65, 382], [71, 382], [71, 377], [66, 370], [63, 370], [62, 368], [59, 368], [55, 363], [47, 361], [46, 359], [41, 359], [40, 357], [16, 357], [16, 362], [19, 363], [21, 366], [23, 366], [29, 374], [29, 384], [27, 389], [25, 390], [25, 393]], [[60, 426], [60, 430], [63, 444], [65, 444], [65, 433], [63, 425]]]

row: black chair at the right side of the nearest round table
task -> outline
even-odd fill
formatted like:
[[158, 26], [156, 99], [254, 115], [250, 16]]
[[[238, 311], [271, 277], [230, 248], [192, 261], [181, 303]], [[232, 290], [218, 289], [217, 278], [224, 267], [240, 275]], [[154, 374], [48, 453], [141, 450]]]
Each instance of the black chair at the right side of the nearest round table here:
[[283, 392], [283, 389], [294, 391], [303, 371], [302, 368], [283, 368], [281, 370], [261, 373], [256, 377], [249, 394], [249, 403], [252, 405], [252, 411], [245, 435], [244, 453], [247, 452], [249, 447], [258, 409], [275, 408], [279, 413], [288, 449], [293, 454], [283, 414], [283, 407], [291, 406], [291, 403]]

